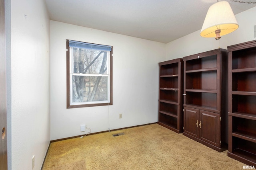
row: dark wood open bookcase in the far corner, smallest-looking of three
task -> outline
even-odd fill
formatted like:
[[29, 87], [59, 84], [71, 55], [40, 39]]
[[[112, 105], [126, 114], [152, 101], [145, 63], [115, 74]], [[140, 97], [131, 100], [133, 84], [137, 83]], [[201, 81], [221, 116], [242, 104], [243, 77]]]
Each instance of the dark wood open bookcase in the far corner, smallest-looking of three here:
[[158, 124], [176, 133], [183, 131], [183, 62], [159, 63]]

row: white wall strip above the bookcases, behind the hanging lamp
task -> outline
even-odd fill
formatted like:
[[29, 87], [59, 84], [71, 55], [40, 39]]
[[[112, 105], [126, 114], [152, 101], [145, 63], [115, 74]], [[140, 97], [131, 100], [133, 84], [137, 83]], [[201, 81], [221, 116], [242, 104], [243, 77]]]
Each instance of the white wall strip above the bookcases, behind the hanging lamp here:
[[227, 35], [224, 35], [220, 40], [214, 38], [204, 38], [200, 36], [198, 30], [194, 33], [186, 35], [180, 39], [166, 44], [166, 60], [186, 57], [213, 49], [227, 49], [229, 45], [243, 43], [255, 40], [254, 25], [256, 25], [256, 7], [236, 14], [239, 28]]

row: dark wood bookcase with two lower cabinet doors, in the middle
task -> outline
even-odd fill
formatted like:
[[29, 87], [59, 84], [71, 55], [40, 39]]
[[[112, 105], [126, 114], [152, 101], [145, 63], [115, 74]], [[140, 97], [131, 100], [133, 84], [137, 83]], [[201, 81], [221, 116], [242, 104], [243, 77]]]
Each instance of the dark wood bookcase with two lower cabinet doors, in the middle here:
[[228, 143], [227, 60], [225, 49], [183, 57], [183, 135], [218, 152]]

